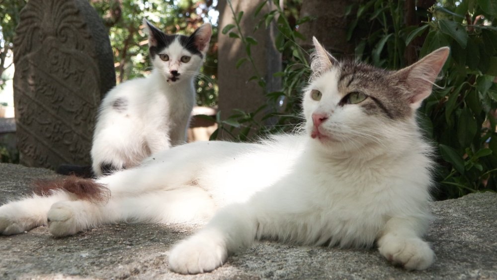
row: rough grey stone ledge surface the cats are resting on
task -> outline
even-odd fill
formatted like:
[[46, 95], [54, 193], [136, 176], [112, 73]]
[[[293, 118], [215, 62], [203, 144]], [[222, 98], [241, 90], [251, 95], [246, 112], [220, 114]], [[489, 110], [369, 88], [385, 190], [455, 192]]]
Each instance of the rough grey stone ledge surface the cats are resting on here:
[[[0, 164], [0, 204], [29, 193], [39, 168]], [[390, 265], [375, 249], [340, 250], [260, 242], [212, 273], [167, 268], [171, 246], [195, 225], [109, 225], [54, 238], [45, 227], [0, 237], [0, 279], [497, 279], [497, 193], [434, 202], [426, 239], [437, 255], [422, 272]]]

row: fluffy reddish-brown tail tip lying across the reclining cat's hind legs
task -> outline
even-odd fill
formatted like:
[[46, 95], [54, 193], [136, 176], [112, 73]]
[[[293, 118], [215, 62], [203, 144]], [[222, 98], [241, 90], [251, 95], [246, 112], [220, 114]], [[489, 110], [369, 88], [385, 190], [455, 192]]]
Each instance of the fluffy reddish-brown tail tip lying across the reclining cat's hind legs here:
[[107, 203], [110, 198], [110, 190], [104, 185], [91, 179], [76, 176], [68, 176], [59, 180], [37, 181], [34, 185], [34, 192], [38, 195], [50, 195], [53, 191], [62, 189], [76, 195], [78, 199], [91, 202]]

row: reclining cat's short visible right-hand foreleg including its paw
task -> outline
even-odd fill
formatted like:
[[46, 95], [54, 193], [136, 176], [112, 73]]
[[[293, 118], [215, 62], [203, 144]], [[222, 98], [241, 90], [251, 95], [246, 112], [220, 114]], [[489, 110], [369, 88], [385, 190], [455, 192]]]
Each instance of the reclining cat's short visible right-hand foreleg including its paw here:
[[380, 254], [407, 270], [427, 269], [433, 264], [435, 253], [420, 238], [424, 228], [425, 225], [414, 218], [390, 218], [378, 239]]

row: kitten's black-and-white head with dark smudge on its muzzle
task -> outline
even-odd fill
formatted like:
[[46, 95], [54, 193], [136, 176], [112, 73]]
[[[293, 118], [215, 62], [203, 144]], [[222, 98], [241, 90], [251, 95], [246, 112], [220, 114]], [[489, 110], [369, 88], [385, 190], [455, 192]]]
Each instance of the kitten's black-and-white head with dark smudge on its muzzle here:
[[150, 59], [168, 83], [189, 80], [197, 75], [209, 48], [210, 23], [204, 23], [190, 36], [168, 35], [144, 19], [149, 36]]

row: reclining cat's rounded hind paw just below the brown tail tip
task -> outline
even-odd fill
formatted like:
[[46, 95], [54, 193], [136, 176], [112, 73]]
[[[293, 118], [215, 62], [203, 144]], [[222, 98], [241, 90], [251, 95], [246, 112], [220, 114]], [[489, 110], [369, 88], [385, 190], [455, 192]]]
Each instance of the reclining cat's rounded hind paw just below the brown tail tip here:
[[66, 201], [57, 202], [48, 211], [48, 229], [54, 236], [67, 236], [77, 233], [74, 211]]

